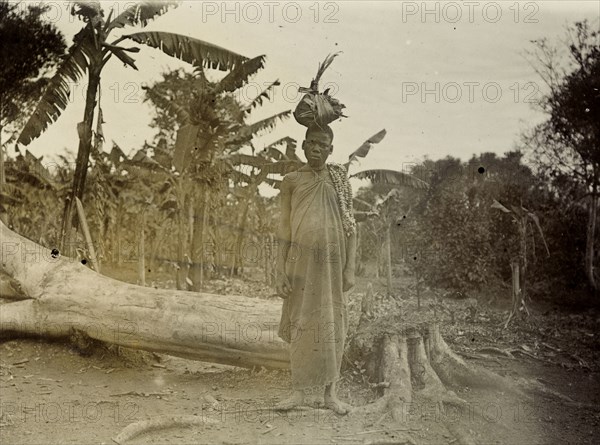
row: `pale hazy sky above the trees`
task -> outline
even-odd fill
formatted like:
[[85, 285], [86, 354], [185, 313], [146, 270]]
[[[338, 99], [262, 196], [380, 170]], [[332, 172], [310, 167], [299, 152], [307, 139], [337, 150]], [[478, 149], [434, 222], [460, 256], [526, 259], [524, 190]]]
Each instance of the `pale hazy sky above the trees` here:
[[[48, 17], [56, 19], [70, 44], [82, 22], [70, 16], [65, 2], [47, 3], [52, 5]], [[120, 11], [126, 4], [103, 3]], [[433, 12], [423, 15], [425, 9]], [[275, 79], [282, 85], [272, 102], [253, 114], [257, 120], [293, 110], [300, 99], [296, 86], [309, 86], [319, 62], [343, 51], [322, 78], [322, 84], [337, 88], [336, 97], [349, 116], [331, 125], [335, 140], [330, 160], [346, 161], [365, 139], [387, 130], [386, 138], [352, 172], [406, 170], [405, 163], [425, 156], [466, 160], [474, 153], [511, 150], [520, 131], [543, 117], [526, 100], [536, 97], [536, 88], [543, 89], [523, 57], [532, 47], [530, 40], [547, 37], [556, 42], [564, 38], [566, 23], [588, 18], [598, 26], [599, 16], [598, 1], [186, 1], [145, 29], [189, 35], [247, 57], [266, 54], [266, 68], [242, 94], [251, 98], [258, 92], [256, 85], [264, 87]], [[126, 32], [135, 31], [130, 29]], [[108, 150], [111, 140], [126, 153], [151, 140], [151, 109], [142, 103], [140, 86], [159, 80], [169, 68], [189, 66], [149, 47], [133, 57], [139, 71], [116, 58], [103, 71]], [[425, 89], [431, 93], [423, 95]], [[48, 162], [65, 148], [76, 153], [75, 124], [82, 120], [84, 90], [85, 80], [73, 86], [72, 104], [27, 147], [34, 155], [44, 155]], [[256, 147], [286, 135], [302, 140], [303, 133], [304, 127], [291, 118], [257, 140]]]

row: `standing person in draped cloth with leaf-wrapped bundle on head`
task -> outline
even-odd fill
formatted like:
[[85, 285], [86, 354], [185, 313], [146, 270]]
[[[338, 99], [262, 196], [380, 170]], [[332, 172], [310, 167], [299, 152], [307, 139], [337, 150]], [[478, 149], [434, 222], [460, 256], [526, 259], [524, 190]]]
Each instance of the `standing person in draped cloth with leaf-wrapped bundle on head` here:
[[338, 399], [335, 385], [348, 329], [344, 292], [354, 286], [356, 223], [346, 169], [326, 162], [333, 151], [328, 123], [341, 116], [343, 105], [317, 90], [333, 57], [321, 64], [294, 113], [307, 126], [302, 143], [307, 163], [281, 183], [279, 336], [290, 344], [293, 394], [276, 409], [304, 404], [307, 389], [318, 387], [326, 407], [346, 414], [351, 407]]

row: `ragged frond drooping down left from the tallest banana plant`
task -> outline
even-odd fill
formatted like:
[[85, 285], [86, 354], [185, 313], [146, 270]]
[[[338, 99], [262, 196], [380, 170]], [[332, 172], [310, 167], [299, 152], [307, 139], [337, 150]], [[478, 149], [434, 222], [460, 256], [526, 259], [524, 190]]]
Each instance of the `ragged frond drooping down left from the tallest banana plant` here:
[[[88, 69], [88, 57], [94, 50], [90, 46], [85, 29], [75, 38], [69, 54], [58, 67], [56, 74], [46, 87], [35, 111], [23, 127], [18, 144], [29, 144], [37, 138], [53, 122], [56, 122], [62, 111], [69, 104], [71, 85], [77, 82]], [[92, 44], [93, 45], [93, 44]]]

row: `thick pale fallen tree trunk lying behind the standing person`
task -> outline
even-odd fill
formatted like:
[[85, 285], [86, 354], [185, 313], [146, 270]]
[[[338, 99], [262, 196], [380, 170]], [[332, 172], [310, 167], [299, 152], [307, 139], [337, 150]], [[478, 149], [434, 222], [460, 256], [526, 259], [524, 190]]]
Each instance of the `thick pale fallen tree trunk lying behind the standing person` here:
[[[280, 301], [154, 289], [108, 278], [0, 222], [1, 271], [20, 285], [0, 334], [69, 337], [227, 365], [288, 368]], [[5, 281], [5, 280], [3, 280]], [[10, 295], [2, 295], [10, 298]]]

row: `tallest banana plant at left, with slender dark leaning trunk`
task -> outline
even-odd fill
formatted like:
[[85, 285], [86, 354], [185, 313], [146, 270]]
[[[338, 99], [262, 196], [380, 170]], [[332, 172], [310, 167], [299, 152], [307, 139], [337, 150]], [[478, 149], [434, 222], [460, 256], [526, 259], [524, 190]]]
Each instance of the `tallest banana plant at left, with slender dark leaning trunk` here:
[[[135, 32], [111, 40], [114, 31], [130, 26], [145, 27], [180, 2], [138, 2], [128, 6], [113, 18], [111, 9], [105, 18], [100, 1], [73, 2], [71, 14], [84, 22], [83, 28], [73, 38], [67, 57], [57, 68], [33, 115], [25, 124], [17, 140], [29, 144], [55, 122], [69, 104], [70, 85], [88, 76], [83, 121], [77, 124], [79, 147], [73, 186], [65, 203], [61, 229], [61, 244], [70, 235], [75, 197], [83, 200], [90, 151], [92, 149], [92, 125], [100, 89], [100, 76], [109, 60], [116, 58], [125, 66], [137, 70], [131, 53], [140, 51], [139, 46], [123, 46], [130, 40], [188, 62], [194, 66], [231, 70], [247, 60], [246, 57], [191, 37], [168, 32]], [[113, 57], [114, 56], [114, 57]]]

